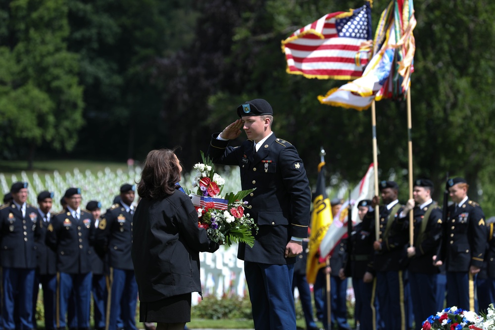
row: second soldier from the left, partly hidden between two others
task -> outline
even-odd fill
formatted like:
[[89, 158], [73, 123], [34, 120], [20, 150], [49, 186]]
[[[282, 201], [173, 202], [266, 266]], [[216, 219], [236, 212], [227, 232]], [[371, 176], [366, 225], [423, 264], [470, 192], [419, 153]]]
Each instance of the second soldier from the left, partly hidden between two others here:
[[40, 237], [36, 241], [37, 268], [34, 282], [33, 295], [33, 323], [36, 325], [35, 311], [38, 300], [38, 290], [43, 287], [43, 310], [45, 312], [45, 329], [55, 329], [55, 294], [57, 286], [56, 254], [50, 249], [45, 240], [47, 229], [51, 219], [51, 206], [53, 205], [53, 192], [42, 191], [38, 194], [38, 214], [40, 224]]

